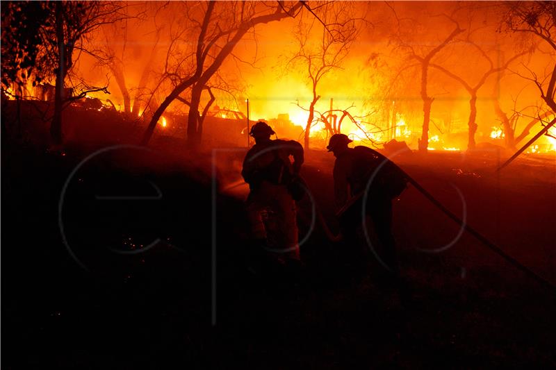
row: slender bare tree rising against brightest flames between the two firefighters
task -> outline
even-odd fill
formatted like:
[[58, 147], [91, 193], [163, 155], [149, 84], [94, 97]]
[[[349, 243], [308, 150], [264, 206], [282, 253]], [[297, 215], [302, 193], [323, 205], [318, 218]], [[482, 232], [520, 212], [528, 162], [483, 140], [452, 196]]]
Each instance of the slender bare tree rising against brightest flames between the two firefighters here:
[[[316, 27], [318, 27], [319, 36], [317, 41], [313, 41], [311, 35]], [[324, 6], [318, 8], [318, 15], [311, 17], [309, 23], [306, 23], [301, 17], [297, 24], [295, 39], [300, 49], [289, 60], [288, 66], [302, 65], [311, 81], [313, 96], [309, 103], [309, 117], [305, 126], [305, 149], [309, 149], [309, 135], [315, 118], [315, 105], [320, 99], [317, 92], [318, 83], [332, 70], [341, 69], [342, 62], [347, 57], [358, 33], [356, 19], [352, 15], [352, 6], [349, 3], [325, 3]], [[334, 131], [327, 117], [322, 115], [321, 117], [332, 135]]]

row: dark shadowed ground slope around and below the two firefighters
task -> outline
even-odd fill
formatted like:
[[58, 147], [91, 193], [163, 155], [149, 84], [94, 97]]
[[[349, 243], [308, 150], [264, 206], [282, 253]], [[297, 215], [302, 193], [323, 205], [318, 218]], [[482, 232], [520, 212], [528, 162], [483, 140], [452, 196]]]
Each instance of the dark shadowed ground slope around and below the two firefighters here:
[[[398, 289], [380, 283], [370, 255], [350, 257], [318, 227], [299, 274], [250, 273], [245, 187], [229, 186], [243, 151], [217, 154], [226, 190], [215, 200], [210, 152], [120, 148], [72, 173], [92, 149], [2, 151], [3, 369], [556, 366], [556, 290], [457, 237], [413, 188], [395, 203]], [[499, 161], [434, 153], [398, 162], [556, 283], [554, 159], [493, 176]], [[303, 171], [334, 228], [331, 168], [315, 152]], [[310, 202], [300, 207], [305, 235]]]

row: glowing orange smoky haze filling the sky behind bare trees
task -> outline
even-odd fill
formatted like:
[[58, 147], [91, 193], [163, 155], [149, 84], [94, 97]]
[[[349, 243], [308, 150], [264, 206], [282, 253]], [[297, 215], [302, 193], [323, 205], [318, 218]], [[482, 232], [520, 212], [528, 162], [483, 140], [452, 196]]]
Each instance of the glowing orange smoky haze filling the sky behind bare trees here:
[[[475, 86], [489, 69], [502, 67], [519, 53], [522, 55], [514, 58], [507, 69], [489, 74], [477, 89], [476, 140], [489, 140], [500, 128], [493, 108], [495, 100], [503, 111], [509, 114], [519, 111], [522, 115], [517, 118], [516, 134], [530, 117], [546, 110], [537, 86], [523, 76], [531, 76], [532, 72], [539, 78], [546, 76], [554, 51], [530, 35], [505, 31], [507, 10], [503, 4], [343, 3], [347, 5], [345, 12], [349, 14], [341, 16], [349, 16], [357, 35], [347, 47], [345, 58], [320, 79], [316, 88], [320, 98], [314, 108], [317, 112], [325, 112], [331, 106], [335, 110], [349, 110], [354, 120], [345, 119], [342, 130], [355, 140], [370, 138], [384, 143], [397, 137], [416, 148], [423, 126], [418, 58], [438, 47], [457, 27], [461, 33], [430, 60], [432, 65], [445, 70], [434, 66], [428, 69], [427, 94], [434, 99], [429, 141], [465, 149], [470, 95], [461, 81]], [[126, 109], [125, 96], [129, 96], [128, 109], [148, 120], [176, 81], [192, 73], [191, 53], [198, 36], [195, 22], [202, 19], [204, 6], [204, 3], [130, 3], [126, 11], [131, 18], [101, 26], [83, 40], [83, 49], [92, 52], [79, 55], [72, 73], [90, 85], [108, 86], [109, 95], [95, 92], [90, 96], [105, 102], [109, 99], [119, 110]], [[216, 8], [225, 6], [218, 3]], [[227, 10], [222, 11], [224, 14]], [[315, 12], [322, 19], [318, 9]], [[215, 87], [211, 110], [218, 106], [247, 115], [249, 99], [251, 119], [270, 120], [287, 114], [294, 125], [305, 128], [313, 98], [311, 78], [306, 63], [293, 59], [300, 53], [302, 30], [309, 28], [304, 35], [304, 47], [318, 56], [323, 37], [327, 33], [334, 35], [335, 31], [323, 26], [309, 12], [258, 24], [247, 32], [209, 81]], [[531, 49], [532, 46], [537, 48]], [[186, 100], [189, 96], [189, 89], [181, 94]], [[199, 111], [208, 100], [208, 94], [203, 94]], [[188, 110], [183, 101], [174, 100], [165, 112], [185, 115]], [[186, 126], [187, 122], [174, 124]], [[324, 124], [315, 121], [311, 137], [316, 145], [322, 146], [327, 135]], [[553, 144], [548, 140], [541, 141]]]

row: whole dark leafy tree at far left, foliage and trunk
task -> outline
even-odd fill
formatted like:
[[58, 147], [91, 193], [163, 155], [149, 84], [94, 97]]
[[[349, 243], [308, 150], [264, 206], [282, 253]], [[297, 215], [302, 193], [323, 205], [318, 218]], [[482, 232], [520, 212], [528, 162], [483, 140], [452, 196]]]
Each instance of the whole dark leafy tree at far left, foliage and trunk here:
[[[33, 86], [55, 78], [51, 140], [61, 144], [63, 103], [106, 87], [83, 85], [78, 96], [64, 96], [68, 74], [91, 33], [101, 24], [123, 19], [124, 3], [99, 1], [9, 2], [2, 7], [2, 85], [32, 81]], [[4, 72], [5, 69], [5, 72]]]

